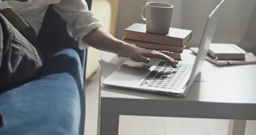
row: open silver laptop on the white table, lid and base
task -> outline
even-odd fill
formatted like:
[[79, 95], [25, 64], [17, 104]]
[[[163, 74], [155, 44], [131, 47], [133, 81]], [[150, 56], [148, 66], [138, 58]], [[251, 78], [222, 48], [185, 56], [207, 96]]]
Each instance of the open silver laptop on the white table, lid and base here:
[[102, 84], [173, 96], [186, 96], [207, 55], [223, 3], [224, 0], [210, 13], [207, 19], [194, 63], [179, 61], [177, 68], [173, 68], [166, 61], [160, 59], [151, 59], [148, 64], [128, 60], [108, 76]]

